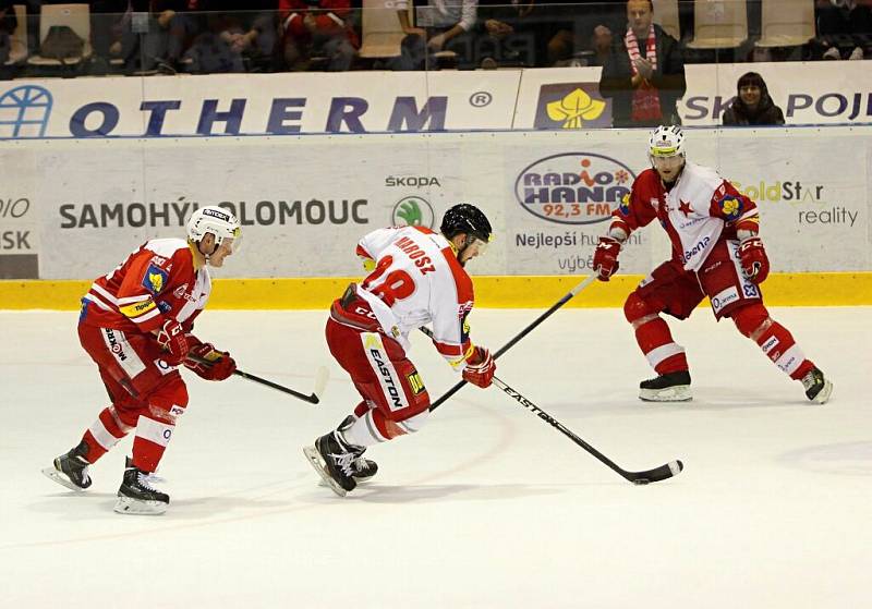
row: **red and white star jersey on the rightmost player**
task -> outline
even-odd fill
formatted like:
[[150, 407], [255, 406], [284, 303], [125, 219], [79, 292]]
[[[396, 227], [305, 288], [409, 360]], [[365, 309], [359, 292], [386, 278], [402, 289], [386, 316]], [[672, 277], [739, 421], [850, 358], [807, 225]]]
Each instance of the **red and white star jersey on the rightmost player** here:
[[611, 228], [627, 234], [657, 219], [673, 243], [673, 259], [699, 270], [720, 236], [737, 239], [737, 228], [758, 232], [756, 204], [714, 169], [687, 162], [667, 192], [654, 169], [633, 182], [631, 193], [611, 212]]

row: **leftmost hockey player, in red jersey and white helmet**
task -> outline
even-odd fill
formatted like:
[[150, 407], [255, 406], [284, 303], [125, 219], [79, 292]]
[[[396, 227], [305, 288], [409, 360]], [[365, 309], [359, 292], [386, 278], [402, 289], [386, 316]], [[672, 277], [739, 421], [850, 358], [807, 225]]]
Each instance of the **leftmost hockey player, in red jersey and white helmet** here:
[[92, 483], [88, 466], [135, 430], [114, 510], [167, 510], [169, 496], [155, 488], [153, 473], [187, 406], [178, 366], [207, 380], [223, 380], [237, 367], [229, 353], [191, 331], [211, 291], [207, 267], [221, 267], [239, 244], [237, 218], [220, 207], [204, 207], [187, 222], [187, 241], [148, 241], [94, 281], [82, 299], [78, 339], [99, 368], [110, 405], [44, 474], [84, 490]]

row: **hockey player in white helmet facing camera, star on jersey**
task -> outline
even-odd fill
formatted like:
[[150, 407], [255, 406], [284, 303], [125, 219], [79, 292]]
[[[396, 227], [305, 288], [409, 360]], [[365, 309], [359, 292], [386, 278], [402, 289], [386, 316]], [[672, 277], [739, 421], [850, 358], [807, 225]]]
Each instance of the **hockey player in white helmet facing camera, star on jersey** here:
[[802, 382], [809, 400], [825, 403], [832, 382], [763, 306], [759, 285], [770, 263], [758, 235], [756, 205], [715, 170], [686, 161], [683, 146], [680, 127], [652, 132], [653, 168], [635, 179], [594, 253], [593, 268], [598, 279], [608, 281], [632, 231], [658, 220], [673, 244], [671, 259], [655, 268], [623, 305], [635, 340], [658, 375], [642, 381], [639, 397], [654, 402], [691, 399], [685, 350], [675, 343], [659, 314], [685, 319], [708, 296], [715, 318], [732, 319], [782, 372]]

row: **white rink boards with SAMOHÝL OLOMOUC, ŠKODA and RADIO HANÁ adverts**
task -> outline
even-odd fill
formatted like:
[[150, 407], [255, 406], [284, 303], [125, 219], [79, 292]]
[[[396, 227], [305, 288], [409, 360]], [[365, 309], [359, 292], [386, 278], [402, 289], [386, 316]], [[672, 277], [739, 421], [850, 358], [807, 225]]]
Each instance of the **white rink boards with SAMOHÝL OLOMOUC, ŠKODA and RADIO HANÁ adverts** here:
[[[872, 269], [867, 130], [686, 135], [690, 160], [758, 202], [773, 270]], [[366, 232], [438, 229], [445, 209], [469, 202], [496, 233], [473, 273], [582, 275], [649, 166], [646, 142], [609, 130], [19, 141], [0, 149], [0, 254], [38, 255], [43, 279], [92, 278], [147, 239], [183, 236], [197, 206], [221, 205], [244, 234], [221, 276], [353, 276]], [[668, 257], [655, 222], [631, 236], [621, 270]]]

